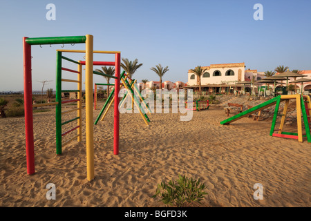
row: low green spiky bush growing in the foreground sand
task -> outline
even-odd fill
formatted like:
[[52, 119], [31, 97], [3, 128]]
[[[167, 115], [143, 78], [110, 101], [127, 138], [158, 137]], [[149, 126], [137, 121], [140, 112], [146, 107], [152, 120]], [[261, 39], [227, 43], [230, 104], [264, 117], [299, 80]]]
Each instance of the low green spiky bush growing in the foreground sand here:
[[161, 198], [160, 201], [164, 204], [174, 205], [177, 207], [190, 206], [194, 203], [201, 204], [204, 195], [207, 193], [204, 191], [205, 185], [200, 183], [200, 179], [194, 180], [187, 178], [185, 175], [178, 175], [178, 180], [169, 181], [169, 183], [161, 182], [158, 184], [156, 194]]

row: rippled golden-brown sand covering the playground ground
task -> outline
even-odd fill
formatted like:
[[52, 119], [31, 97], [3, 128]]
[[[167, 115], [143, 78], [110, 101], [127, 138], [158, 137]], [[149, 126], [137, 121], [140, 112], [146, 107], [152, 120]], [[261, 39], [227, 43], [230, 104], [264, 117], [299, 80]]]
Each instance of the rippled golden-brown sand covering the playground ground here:
[[[112, 109], [94, 127], [92, 182], [86, 180], [85, 131], [84, 142], [70, 143], [57, 156], [55, 111], [35, 113], [36, 173], [27, 175], [24, 118], [0, 119], [0, 206], [165, 206], [151, 196], [178, 174], [207, 186], [199, 206], [311, 206], [306, 140], [270, 137], [268, 120], [220, 125], [227, 116], [218, 106], [194, 112], [189, 122], [180, 114], [149, 117], [146, 126], [139, 114], [120, 115], [119, 155], [113, 155]], [[56, 200], [46, 199], [48, 183], [56, 186]], [[256, 183], [263, 185], [263, 200], [254, 200]]]

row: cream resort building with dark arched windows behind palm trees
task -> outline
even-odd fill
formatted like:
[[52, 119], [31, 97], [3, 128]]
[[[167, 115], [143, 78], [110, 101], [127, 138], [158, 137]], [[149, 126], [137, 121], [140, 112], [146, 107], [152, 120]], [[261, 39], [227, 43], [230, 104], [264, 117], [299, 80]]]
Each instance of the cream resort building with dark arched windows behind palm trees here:
[[[204, 66], [205, 73], [200, 77], [202, 91], [208, 93], [234, 93], [244, 92], [245, 63], [211, 64]], [[185, 88], [193, 88], [198, 91], [198, 77], [188, 70], [188, 83]]]

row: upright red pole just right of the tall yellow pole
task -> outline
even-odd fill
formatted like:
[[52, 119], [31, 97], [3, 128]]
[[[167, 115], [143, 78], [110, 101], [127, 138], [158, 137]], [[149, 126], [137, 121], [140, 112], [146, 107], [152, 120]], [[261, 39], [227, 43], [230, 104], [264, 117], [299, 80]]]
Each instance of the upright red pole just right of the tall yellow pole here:
[[114, 113], [114, 132], [113, 132], [113, 154], [119, 154], [119, 91], [120, 91], [120, 53], [115, 54], [115, 113]]

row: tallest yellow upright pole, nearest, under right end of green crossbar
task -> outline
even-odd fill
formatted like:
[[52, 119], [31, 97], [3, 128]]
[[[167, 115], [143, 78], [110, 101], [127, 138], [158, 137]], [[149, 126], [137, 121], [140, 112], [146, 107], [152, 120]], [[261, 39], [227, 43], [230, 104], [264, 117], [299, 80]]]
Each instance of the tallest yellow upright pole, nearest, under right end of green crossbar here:
[[86, 35], [85, 70], [86, 169], [87, 179], [91, 181], [94, 179], [93, 35]]

